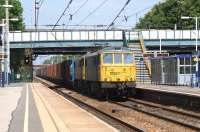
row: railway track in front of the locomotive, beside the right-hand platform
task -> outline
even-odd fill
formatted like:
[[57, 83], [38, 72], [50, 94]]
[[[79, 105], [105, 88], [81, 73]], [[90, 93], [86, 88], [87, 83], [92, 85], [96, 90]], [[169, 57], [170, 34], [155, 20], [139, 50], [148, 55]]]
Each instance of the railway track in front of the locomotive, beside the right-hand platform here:
[[136, 99], [128, 99], [125, 102], [110, 102], [168, 122], [173, 122], [186, 128], [200, 131], [200, 115], [198, 114], [174, 110], [160, 105], [153, 105]]

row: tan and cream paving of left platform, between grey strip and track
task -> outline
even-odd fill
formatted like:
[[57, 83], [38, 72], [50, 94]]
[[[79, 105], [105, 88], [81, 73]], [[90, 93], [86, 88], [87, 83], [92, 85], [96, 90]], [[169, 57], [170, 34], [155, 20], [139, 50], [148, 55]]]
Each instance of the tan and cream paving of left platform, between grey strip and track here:
[[[45, 131], [113, 132], [112, 126], [98, 119], [40, 83], [32, 84], [36, 105]], [[42, 106], [45, 106], [42, 108]], [[46, 111], [46, 112], [45, 112]], [[47, 114], [48, 113], [48, 114]], [[46, 115], [45, 115], [46, 114]], [[49, 115], [49, 118], [48, 118]], [[50, 125], [52, 128], [50, 129]]]

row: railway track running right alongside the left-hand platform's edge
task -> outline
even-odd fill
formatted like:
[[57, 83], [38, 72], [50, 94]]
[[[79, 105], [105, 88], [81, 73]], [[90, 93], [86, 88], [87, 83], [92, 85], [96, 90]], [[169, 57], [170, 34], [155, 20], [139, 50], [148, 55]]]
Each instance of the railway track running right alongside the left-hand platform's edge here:
[[[38, 80], [39, 82], [42, 82], [41, 80]], [[42, 82], [44, 85], [51, 87], [48, 83], [46, 82]], [[140, 129], [136, 126], [133, 126], [129, 123], [126, 123], [110, 114], [107, 114], [105, 112], [103, 112], [102, 110], [99, 110], [87, 103], [84, 103], [83, 101], [74, 98], [72, 96], [70, 96], [70, 94], [67, 94], [65, 92], [63, 92], [60, 89], [53, 89], [56, 93], [58, 93], [59, 95], [63, 96], [64, 98], [66, 98], [67, 100], [70, 100], [71, 102], [75, 103], [76, 105], [80, 106], [81, 108], [89, 111], [90, 113], [94, 114], [95, 116], [97, 116], [98, 118], [104, 120], [105, 122], [107, 122], [108, 124], [112, 125], [113, 127], [115, 127], [116, 129], [118, 129], [120, 132], [144, 132], [143, 129]]]

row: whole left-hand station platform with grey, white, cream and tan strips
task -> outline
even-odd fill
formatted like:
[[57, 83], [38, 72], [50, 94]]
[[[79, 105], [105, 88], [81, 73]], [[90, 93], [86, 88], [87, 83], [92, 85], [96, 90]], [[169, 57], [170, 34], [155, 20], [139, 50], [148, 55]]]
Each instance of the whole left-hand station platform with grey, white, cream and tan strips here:
[[118, 131], [41, 83], [0, 88], [1, 132]]

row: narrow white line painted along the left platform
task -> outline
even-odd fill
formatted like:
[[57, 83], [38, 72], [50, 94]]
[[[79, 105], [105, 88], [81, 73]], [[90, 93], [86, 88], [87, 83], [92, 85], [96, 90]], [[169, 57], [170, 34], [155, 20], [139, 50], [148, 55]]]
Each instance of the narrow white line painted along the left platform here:
[[27, 84], [26, 85], [25, 115], [24, 115], [24, 132], [28, 132], [28, 113], [29, 113], [29, 94], [28, 94], [28, 84]]

